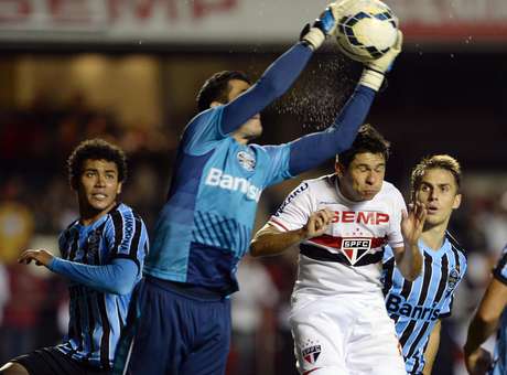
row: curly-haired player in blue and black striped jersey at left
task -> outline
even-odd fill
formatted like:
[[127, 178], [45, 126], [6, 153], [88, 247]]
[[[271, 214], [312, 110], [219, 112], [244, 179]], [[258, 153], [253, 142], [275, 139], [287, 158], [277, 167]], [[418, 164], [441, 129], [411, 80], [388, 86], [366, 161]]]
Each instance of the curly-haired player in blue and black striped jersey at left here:
[[141, 278], [148, 235], [129, 206], [118, 202], [127, 175], [123, 151], [94, 139], [68, 159], [79, 218], [60, 236], [62, 257], [45, 249], [26, 250], [20, 262], [43, 265], [69, 281], [68, 334], [8, 363], [2, 375], [110, 374], [127, 321], [131, 292]]

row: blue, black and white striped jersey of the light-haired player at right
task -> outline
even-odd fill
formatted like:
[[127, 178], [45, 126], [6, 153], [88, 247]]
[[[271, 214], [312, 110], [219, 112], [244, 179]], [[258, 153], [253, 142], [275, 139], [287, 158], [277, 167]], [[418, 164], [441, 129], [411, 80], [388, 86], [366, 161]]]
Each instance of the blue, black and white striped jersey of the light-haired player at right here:
[[436, 320], [451, 315], [454, 290], [466, 270], [466, 256], [456, 240], [445, 234], [439, 250], [419, 240], [423, 255], [421, 275], [403, 278], [395, 266], [392, 249], [384, 253], [384, 294], [389, 317], [402, 346], [408, 374], [422, 374], [424, 351]]

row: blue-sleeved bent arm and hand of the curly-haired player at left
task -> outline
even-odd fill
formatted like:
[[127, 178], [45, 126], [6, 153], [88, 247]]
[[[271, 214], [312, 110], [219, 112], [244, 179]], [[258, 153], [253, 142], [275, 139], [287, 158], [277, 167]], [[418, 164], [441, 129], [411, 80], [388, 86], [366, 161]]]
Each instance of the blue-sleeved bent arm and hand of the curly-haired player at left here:
[[136, 282], [138, 266], [131, 259], [118, 258], [104, 266], [90, 266], [76, 261], [64, 260], [53, 256], [47, 250], [26, 250], [19, 262], [45, 266], [55, 274], [62, 275], [72, 281], [83, 283], [95, 290], [114, 293], [129, 293]]

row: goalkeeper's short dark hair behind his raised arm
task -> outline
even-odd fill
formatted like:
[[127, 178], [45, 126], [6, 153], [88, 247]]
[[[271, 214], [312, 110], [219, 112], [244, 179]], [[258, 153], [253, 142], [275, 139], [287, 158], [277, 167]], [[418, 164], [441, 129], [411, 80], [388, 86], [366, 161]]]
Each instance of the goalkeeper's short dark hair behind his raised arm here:
[[231, 79], [245, 81], [251, 85], [250, 78], [242, 72], [223, 71], [215, 73], [206, 79], [197, 94], [196, 100], [198, 110], [203, 111], [208, 109], [213, 101], [227, 103], [230, 92], [229, 81]]

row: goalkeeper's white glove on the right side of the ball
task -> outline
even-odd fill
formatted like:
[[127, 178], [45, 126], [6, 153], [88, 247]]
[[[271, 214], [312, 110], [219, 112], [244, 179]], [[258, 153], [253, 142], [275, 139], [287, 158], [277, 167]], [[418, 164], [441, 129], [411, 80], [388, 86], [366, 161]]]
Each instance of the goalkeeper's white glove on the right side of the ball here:
[[401, 52], [401, 45], [403, 44], [403, 33], [398, 30], [398, 38], [391, 49], [381, 57], [365, 63], [365, 69], [359, 79], [359, 84], [367, 86], [376, 92], [379, 90], [384, 82], [384, 75], [386, 72], [391, 69], [395, 58]]

